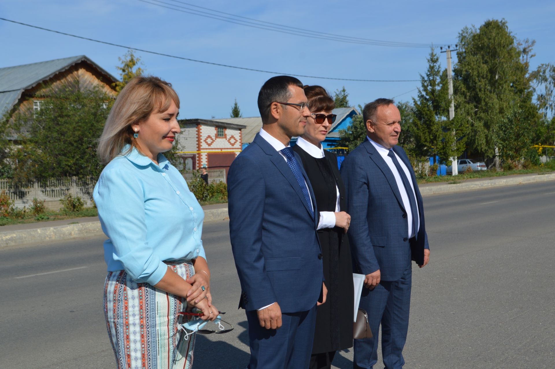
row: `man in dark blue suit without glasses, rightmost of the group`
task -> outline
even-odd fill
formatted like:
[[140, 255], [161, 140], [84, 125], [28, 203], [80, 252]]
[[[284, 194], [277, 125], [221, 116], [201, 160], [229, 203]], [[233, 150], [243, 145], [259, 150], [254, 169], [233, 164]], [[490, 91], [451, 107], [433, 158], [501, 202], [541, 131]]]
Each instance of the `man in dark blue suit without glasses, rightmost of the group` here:
[[361, 309], [374, 337], [355, 340], [354, 368], [377, 361], [379, 328], [386, 369], [402, 368], [408, 330], [412, 265], [427, 264], [430, 247], [422, 196], [405, 151], [397, 146], [401, 115], [390, 99], [362, 111], [366, 140], [341, 164], [351, 214], [349, 241], [357, 272], [366, 275]]

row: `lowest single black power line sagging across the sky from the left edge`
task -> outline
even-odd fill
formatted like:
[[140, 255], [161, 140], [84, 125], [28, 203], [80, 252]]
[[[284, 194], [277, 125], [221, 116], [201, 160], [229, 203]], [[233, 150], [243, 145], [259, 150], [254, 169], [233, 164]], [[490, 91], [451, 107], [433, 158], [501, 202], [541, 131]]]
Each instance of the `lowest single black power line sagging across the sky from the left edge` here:
[[285, 75], [292, 75], [292, 76], [295, 76], [295, 77], [306, 77], [306, 78], [317, 78], [317, 79], [350, 80], [350, 81], [355, 81], [355, 82], [418, 82], [418, 81], [419, 81], [418, 79], [354, 79], [354, 78], [333, 78], [333, 77], [317, 77], [317, 76], [315, 76], [315, 75], [304, 75], [304, 74], [292, 74], [292, 73], [270, 72], [269, 70], [254, 69], [254, 68], [245, 68], [245, 67], [237, 67], [237, 66], [235, 66], [235, 65], [227, 65], [227, 64], [206, 62], [206, 61], [204, 61], [204, 60], [196, 60], [196, 59], [191, 59], [191, 58], [178, 57], [178, 56], [176, 56], [176, 55], [158, 53], [158, 52], [155, 52], [155, 51], [139, 49], [139, 48], [136, 48], [136, 47], [130, 47], [130, 46], [119, 45], [119, 44], [115, 44], [115, 43], [112, 43], [112, 42], [100, 41], [100, 40], [97, 40], [97, 39], [94, 39], [94, 38], [88, 38], [88, 37], [77, 36], [77, 35], [71, 34], [71, 33], [65, 33], [65, 32], [60, 32], [60, 31], [54, 31], [53, 29], [48, 29], [48, 28], [44, 28], [44, 27], [33, 26], [32, 24], [27, 24], [27, 23], [12, 21], [11, 19], [1, 18], [1, 17], [0, 17], [0, 19], [1, 19], [2, 21], [6, 21], [6, 22], [21, 24], [22, 26], [26, 26], [26, 27], [32, 27], [32, 28], [42, 29], [43, 31], [48, 31], [48, 32], [63, 34], [64, 36], [75, 37], [75, 38], [79, 38], [79, 39], [83, 39], [83, 40], [87, 40], [87, 41], [93, 41], [93, 42], [98, 42], [98, 43], [102, 43], [102, 44], [106, 44], [106, 45], [110, 45], [110, 46], [121, 47], [121, 48], [124, 48], [124, 49], [133, 49], [133, 50], [137, 50], [137, 51], [140, 51], [140, 52], [143, 52], [143, 53], [149, 53], [149, 54], [154, 54], [154, 55], [162, 55], [163, 57], [168, 57], [168, 58], [175, 58], [175, 59], [181, 59], [181, 60], [189, 60], [189, 62], [210, 64], [210, 65], [218, 65], [219, 67], [226, 67], [226, 68], [250, 70], [251, 72], [261, 72], [261, 73], [270, 73], [270, 74], [278, 74], [278, 75], [279, 75], [279, 74], [285, 74]]

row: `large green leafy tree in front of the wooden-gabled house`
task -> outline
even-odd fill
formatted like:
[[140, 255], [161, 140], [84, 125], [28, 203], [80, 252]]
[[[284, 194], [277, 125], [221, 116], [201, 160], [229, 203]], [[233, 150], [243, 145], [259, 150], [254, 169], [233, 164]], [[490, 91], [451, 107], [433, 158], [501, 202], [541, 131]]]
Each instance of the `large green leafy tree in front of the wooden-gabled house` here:
[[11, 151], [14, 181], [98, 176], [97, 139], [112, 103], [100, 88], [64, 85], [43, 97], [40, 110], [16, 115], [21, 145]]

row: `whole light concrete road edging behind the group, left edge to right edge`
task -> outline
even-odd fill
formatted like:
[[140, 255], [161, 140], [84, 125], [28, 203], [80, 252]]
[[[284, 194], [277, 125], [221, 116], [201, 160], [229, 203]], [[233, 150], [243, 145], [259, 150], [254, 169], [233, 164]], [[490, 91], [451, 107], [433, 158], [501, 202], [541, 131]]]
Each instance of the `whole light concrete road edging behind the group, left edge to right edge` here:
[[[453, 180], [456, 180], [454, 177]], [[501, 177], [467, 179], [457, 184], [424, 183], [420, 184], [422, 196], [435, 194], [459, 193], [477, 189], [499, 186], [520, 185], [555, 181], [555, 173], [522, 174]], [[555, 185], [555, 183], [554, 183]], [[228, 219], [228, 204], [204, 205], [204, 221], [218, 221]], [[75, 218], [38, 223], [16, 224], [0, 226], [0, 248], [6, 246], [32, 244], [42, 241], [56, 241], [94, 235], [102, 235], [100, 222], [96, 216], [89, 218]]]

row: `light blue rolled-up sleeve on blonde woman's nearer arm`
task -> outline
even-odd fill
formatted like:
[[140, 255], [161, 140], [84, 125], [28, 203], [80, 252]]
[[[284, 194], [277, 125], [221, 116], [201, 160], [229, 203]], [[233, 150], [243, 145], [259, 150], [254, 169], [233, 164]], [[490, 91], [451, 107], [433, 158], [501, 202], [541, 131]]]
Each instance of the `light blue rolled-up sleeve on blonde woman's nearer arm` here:
[[[122, 263], [135, 282], [157, 284], [168, 266], [149, 245], [145, 224], [144, 190], [135, 174], [105, 170], [94, 190], [102, 230], [113, 245], [113, 259]], [[200, 246], [199, 255], [204, 256]]]

